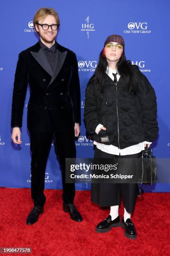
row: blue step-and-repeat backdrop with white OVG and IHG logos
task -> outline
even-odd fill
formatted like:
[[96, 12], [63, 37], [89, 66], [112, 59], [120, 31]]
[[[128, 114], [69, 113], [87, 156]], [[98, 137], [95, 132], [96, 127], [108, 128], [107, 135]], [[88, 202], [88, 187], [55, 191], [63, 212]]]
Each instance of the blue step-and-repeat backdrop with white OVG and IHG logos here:
[[[78, 158], [92, 158], [93, 141], [86, 136], [83, 123], [85, 88], [94, 73], [99, 53], [110, 34], [125, 40], [125, 54], [148, 77], [158, 102], [159, 135], [152, 144], [158, 158], [170, 155], [170, 86], [169, 86], [169, 0], [85, 0], [85, 1], [23, 1], [0, 2], [0, 186], [30, 187], [30, 138], [26, 116], [29, 88], [25, 100], [22, 141], [11, 140], [11, 102], [16, 63], [20, 51], [39, 40], [32, 20], [40, 7], [52, 7], [60, 17], [57, 42], [77, 55], [81, 84], [81, 134], [76, 143]], [[43, 140], [43, 138], [42, 138]], [[167, 177], [169, 173], [167, 172]], [[61, 189], [60, 168], [52, 144], [45, 173], [45, 188]], [[76, 184], [90, 189], [90, 184]], [[168, 192], [170, 184], [145, 185], [145, 191]]]

